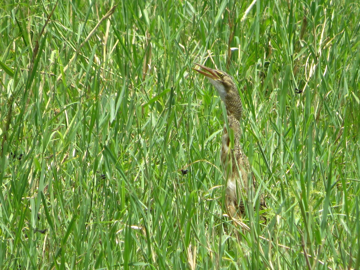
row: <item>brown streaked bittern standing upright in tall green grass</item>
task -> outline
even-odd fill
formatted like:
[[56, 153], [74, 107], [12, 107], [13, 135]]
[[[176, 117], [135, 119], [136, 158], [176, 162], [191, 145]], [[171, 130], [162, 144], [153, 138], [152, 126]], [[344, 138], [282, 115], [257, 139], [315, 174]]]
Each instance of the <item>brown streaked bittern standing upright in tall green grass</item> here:
[[[205, 67], [201, 64], [195, 63], [202, 69], [195, 69], [210, 80], [210, 83], [216, 88], [220, 95], [222, 102], [225, 104], [228, 125], [234, 134], [234, 145], [230, 145], [230, 136], [224, 125], [222, 134], [222, 143], [220, 150], [220, 159], [222, 167], [224, 168], [224, 176], [226, 179], [226, 210], [228, 215], [233, 219], [234, 217], [243, 216], [245, 206], [242, 198], [246, 198], [248, 194], [248, 177], [252, 177], [252, 189], [255, 193], [256, 179], [251, 173], [250, 164], [247, 156], [243, 153], [240, 145], [241, 131], [240, 122], [242, 117], [242, 103], [239, 96], [237, 86], [234, 83], [234, 78], [229, 74]], [[260, 195], [260, 210], [266, 207], [264, 194]], [[261, 220], [265, 220], [261, 216]]]

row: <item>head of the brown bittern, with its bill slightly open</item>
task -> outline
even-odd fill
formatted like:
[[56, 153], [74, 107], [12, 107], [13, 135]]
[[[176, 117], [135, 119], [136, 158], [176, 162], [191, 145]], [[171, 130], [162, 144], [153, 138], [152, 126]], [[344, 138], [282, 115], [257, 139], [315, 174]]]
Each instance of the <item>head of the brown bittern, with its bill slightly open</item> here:
[[230, 91], [234, 91], [234, 89], [237, 91], [234, 78], [231, 77], [228, 73], [217, 69], [208, 68], [198, 63], [194, 64], [201, 67], [203, 70], [195, 68], [193, 68], [193, 70], [201, 73], [209, 79], [211, 84], [216, 88], [217, 93], [219, 93], [223, 102], [226, 103], [226, 96]]

